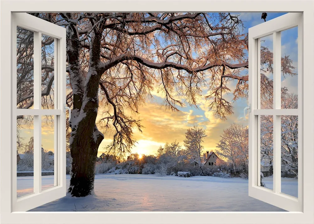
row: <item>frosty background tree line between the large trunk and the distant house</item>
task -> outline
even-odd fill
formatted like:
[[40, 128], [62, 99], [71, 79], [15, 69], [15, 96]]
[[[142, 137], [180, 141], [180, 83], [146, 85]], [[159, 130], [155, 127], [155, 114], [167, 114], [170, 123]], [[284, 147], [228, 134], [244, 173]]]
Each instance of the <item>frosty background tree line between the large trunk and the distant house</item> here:
[[194, 125], [185, 133], [184, 147], [176, 140], [160, 146], [156, 155], [130, 154], [126, 161], [113, 155], [102, 154], [96, 163], [96, 173], [142, 173], [158, 176], [176, 175], [178, 171], [190, 171], [192, 175], [203, 174], [203, 127]]

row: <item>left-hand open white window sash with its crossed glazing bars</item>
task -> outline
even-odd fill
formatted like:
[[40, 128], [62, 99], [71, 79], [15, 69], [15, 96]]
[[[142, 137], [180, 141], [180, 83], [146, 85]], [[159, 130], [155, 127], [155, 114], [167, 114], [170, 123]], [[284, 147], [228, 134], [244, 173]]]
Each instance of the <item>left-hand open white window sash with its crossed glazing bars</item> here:
[[[34, 106], [33, 109], [17, 109], [17, 27], [34, 33]], [[28, 211], [66, 195], [66, 114], [64, 111], [66, 96], [66, 29], [27, 13], [12, 13], [12, 111], [17, 116], [34, 116], [34, 192], [17, 197], [17, 120], [12, 120], [12, 212]], [[54, 38], [54, 109], [41, 108], [41, 58], [42, 34]], [[41, 116], [54, 116], [54, 185], [42, 190], [41, 187]]]

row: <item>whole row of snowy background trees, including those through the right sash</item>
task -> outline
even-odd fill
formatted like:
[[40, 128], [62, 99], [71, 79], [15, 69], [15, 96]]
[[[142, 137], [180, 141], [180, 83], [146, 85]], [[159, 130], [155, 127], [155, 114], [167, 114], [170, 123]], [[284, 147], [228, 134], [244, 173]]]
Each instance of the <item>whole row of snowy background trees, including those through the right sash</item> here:
[[[297, 108], [297, 95], [282, 91], [282, 108]], [[270, 105], [270, 104], [268, 104]], [[267, 109], [267, 108], [266, 108]], [[273, 170], [273, 117], [261, 116], [261, 164]], [[221, 160], [216, 166], [204, 167], [203, 139], [206, 131], [194, 125], [186, 132], [184, 148], [177, 141], [160, 146], [156, 155], [131, 154], [120, 162], [103, 154], [97, 160], [96, 173], [142, 173], [156, 175], [189, 171], [192, 175], [248, 177], [248, 127], [233, 123], [225, 129], [215, 152]], [[284, 176], [298, 176], [298, 118], [281, 116], [281, 170]]]

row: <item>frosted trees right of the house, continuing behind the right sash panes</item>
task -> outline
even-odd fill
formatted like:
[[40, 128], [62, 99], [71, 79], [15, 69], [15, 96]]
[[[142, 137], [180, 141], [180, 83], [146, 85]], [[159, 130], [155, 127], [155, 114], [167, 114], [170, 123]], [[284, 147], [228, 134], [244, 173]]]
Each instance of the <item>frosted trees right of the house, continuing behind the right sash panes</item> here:
[[[281, 93], [281, 108], [298, 108], [298, 96], [288, 93], [286, 88]], [[272, 109], [272, 97], [261, 100], [261, 108]], [[284, 176], [298, 176], [298, 116], [281, 116], [281, 172]], [[261, 164], [273, 173], [273, 116], [260, 117]], [[217, 144], [216, 154], [232, 164], [231, 173], [248, 173], [248, 128], [232, 124], [225, 129]]]

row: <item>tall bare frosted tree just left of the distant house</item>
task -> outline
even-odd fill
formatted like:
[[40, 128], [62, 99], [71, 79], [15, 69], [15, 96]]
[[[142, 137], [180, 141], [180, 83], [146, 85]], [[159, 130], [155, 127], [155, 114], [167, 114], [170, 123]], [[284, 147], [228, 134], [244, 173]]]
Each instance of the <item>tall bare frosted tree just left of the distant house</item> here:
[[184, 139], [184, 146], [186, 148], [185, 154], [187, 155], [187, 158], [195, 163], [195, 165], [199, 166], [201, 174], [203, 174], [201, 155], [204, 148], [202, 143], [206, 136], [206, 131], [203, 127], [193, 125], [192, 128], [189, 128], [185, 132]]

